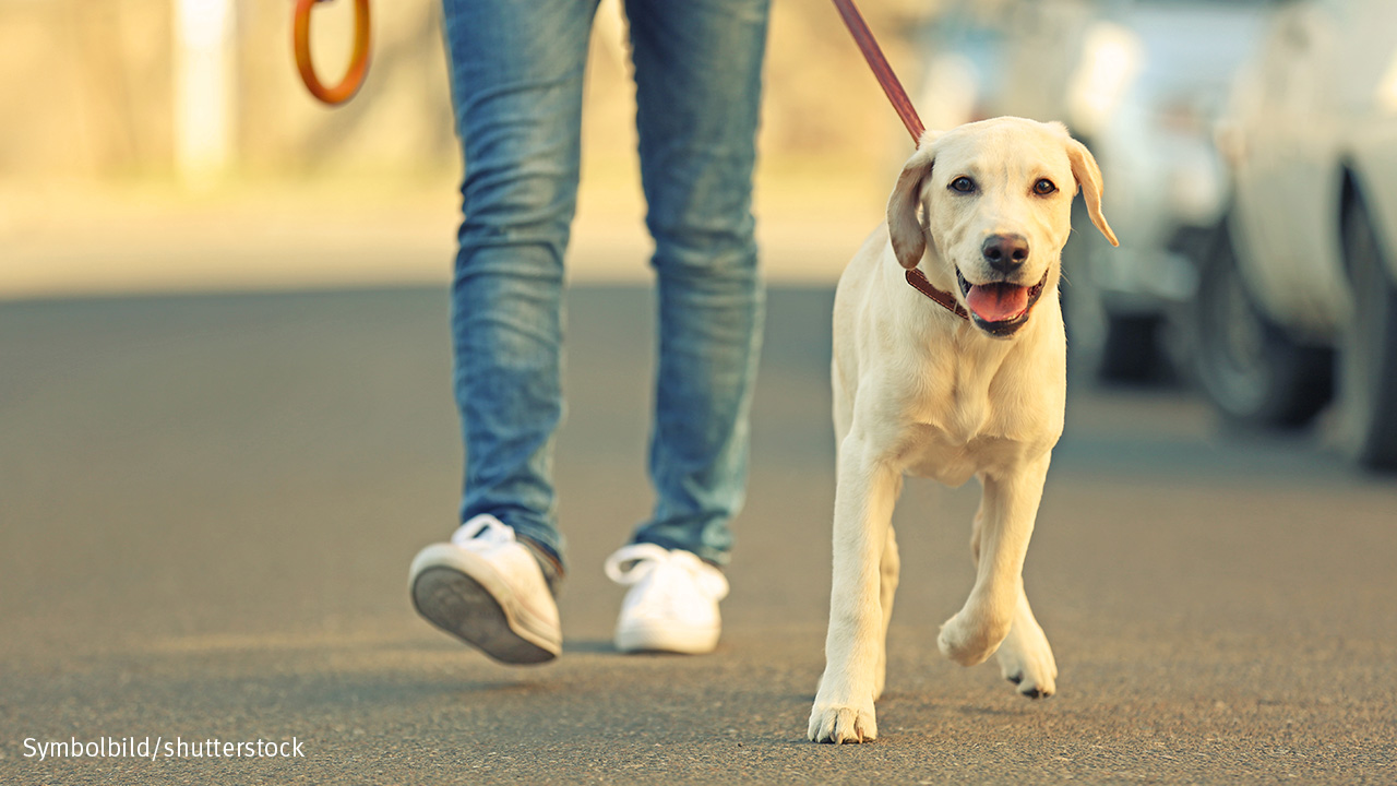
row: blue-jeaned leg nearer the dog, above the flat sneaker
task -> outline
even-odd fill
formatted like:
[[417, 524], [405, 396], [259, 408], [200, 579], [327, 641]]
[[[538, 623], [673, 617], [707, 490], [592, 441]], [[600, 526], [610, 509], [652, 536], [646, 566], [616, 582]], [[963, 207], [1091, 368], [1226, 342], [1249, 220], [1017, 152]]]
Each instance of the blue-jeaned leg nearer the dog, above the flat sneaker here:
[[636, 543], [724, 565], [742, 508], [761, 337], [752, 175], [767, 0], [627, 0], [659, 362]]

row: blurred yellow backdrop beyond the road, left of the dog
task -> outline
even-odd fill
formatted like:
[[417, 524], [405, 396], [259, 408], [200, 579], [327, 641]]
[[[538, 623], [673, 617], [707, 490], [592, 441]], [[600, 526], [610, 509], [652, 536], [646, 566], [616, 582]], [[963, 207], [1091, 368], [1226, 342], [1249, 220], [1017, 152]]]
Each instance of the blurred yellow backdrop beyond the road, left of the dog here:
[[[372, 76], [334, 110], [299, 83], [292, 7], [0, 0], [0, 296], [446, 281], [461, 162], [437, 3], [374, 7]], [[907, 35], [928, 13], [869, 8], [909, 78]], [[326, 83], [344, 73], [352, 20], [349, 0], [316, 8]], [[771, 28], [763, 239], [774, 276], [833, 281], [909, 145], [837, 15], [778, 3]], [[620, 4], [604, 1], [581, 280], [647, 276], [624, 35]]]

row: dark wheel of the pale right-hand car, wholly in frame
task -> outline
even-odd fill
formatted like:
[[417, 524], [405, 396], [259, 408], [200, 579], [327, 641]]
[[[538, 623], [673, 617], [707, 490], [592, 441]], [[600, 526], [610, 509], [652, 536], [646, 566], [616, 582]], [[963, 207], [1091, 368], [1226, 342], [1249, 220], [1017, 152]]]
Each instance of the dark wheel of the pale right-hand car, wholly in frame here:
[[1296, 344], [1261, 312], [1225, 231], [1203, 266], [1194, 306], [1199, 382], [1224, 420], [1294, 428], [1324, 408], [1333, 352]]

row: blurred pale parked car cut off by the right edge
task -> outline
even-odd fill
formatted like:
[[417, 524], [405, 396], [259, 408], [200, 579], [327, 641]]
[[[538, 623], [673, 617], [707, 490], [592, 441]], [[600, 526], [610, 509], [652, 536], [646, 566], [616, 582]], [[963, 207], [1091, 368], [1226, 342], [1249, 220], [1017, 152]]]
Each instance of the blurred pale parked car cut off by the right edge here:
[[1397, 469], [1397, 3], [1281, 7], [1218, 141], [1232, 201], [1194, 298], [1203, 389], [1232, 421], [1301, 425], [1337, 382], [1347, 450]]

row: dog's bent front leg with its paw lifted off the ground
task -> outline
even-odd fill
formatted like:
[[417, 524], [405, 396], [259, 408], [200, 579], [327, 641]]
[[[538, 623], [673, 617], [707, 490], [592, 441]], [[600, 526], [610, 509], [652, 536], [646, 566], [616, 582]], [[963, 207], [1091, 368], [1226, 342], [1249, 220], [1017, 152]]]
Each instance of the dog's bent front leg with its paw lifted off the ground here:
[[1009, 635], [1023, 597], [1024, 557], [1048, 478], [1049, 455], [981, 476], [979, 564], [965, 606], [942, 625], [942, 655], [961, 666], [982, 663]]

